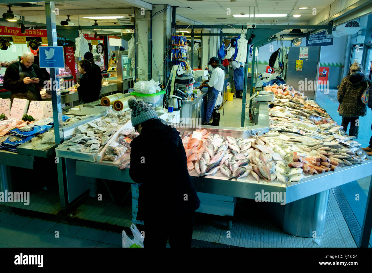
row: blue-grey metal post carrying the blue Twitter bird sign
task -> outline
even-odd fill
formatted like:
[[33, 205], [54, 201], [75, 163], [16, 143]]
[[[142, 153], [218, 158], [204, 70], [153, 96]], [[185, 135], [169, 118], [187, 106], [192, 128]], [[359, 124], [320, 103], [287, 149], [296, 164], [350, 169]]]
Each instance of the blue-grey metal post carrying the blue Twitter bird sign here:
[[[57, 29], [55, 26], [55, 6], [54, 2], [45, 3], [45, 20], [47, 23], [48, 46], [57, 46]], [[60, 79], [57, 78], [59, 74], [58, 68], [50, 69], [50, 78], [52, 86], [52, 107], [53, 107], [53, 122], [54, 122], [54, 137], [55, 145], [58, 146], [63, 141], [62, 129], [62, 107], [61, 107], [61, 93], [57, 91], [60, 88]], [[67, 185], [64, 179], [65, 159], [55, 159], [57, 163], [58, 172], [58, 188], [60, 192], [61, 209], [68, 206], [67, 200]]]

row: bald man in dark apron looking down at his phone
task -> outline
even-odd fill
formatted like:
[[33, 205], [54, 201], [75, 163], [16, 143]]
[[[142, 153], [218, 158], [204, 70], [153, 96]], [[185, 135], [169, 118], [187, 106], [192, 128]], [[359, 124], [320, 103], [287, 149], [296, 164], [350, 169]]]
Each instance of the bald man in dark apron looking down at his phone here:
[[44, 87], [44, 76], [33, 61], [34, 55], [25, 52], [18, 62], [5, 70], [4, 88], [10, 90], [10, 103], [13, 103], [14, 98], [41, 101], [39, 87]]

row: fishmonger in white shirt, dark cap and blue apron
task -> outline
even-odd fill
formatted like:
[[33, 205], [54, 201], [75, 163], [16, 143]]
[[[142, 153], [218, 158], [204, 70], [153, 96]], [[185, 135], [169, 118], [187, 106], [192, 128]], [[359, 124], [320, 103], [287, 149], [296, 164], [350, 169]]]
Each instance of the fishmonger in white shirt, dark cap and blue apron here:
[[211, 78], [203, 81], [202, 84], [199, 86], [199, 89], [208, 87], [208, 102], [205, 114], [205, 124], [208, 124], [211, 120], [218, 93], [222, 92], [225, 80], [225, 67], [222, 64], [219, 64], [217, 57], [212, 57], [209, 60], [208, 65], [211, 65], [213, 68]]

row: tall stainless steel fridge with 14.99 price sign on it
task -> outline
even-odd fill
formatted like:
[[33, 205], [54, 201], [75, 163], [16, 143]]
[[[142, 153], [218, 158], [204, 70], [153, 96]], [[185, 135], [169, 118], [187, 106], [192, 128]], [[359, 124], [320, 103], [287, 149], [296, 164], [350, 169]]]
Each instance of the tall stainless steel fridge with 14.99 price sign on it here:
[[[297, 68], [296, 68], [297, 64]], [[299, 67], [302, 65], [302, 68]], [[320, 46], [291, 46], [288, 50], [286, 83], [316, 100], [320, 65]]]

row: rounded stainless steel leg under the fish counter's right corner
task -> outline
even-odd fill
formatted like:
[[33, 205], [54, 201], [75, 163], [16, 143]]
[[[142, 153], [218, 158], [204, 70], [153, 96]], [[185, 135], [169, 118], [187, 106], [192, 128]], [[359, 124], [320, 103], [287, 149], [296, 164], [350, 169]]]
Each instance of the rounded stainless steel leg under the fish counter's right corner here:
[[324, 232], [329, 189], [285, 205], [283, 231], [299, 237], [318, 237]]

